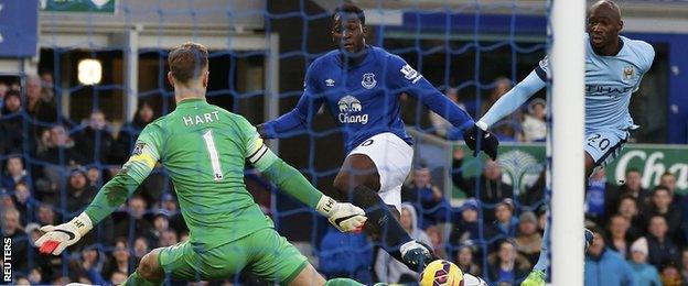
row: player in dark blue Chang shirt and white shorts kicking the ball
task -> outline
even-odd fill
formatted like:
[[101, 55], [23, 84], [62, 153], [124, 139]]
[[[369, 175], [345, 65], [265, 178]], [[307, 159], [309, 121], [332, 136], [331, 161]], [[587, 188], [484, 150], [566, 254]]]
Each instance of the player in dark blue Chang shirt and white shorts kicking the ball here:
[[[308, 68], [297, 107], [258, 125], [264, 138], [307, 132], [323, 103], [343, 130], [346, 160], [334, 188], [342, 199], [366, 210], [365, 231], [397, 260], [419, 270], [432, 255], [411, 240], [399, 224], [400, 189], [413, 157], [411, 138], [399, 117], [399, 96], [408, 94], [464, 131], [466, 144], [496, 157], [497, 140], [475, 127], [473, 119], [438, 91], [397, 55], [367, 45], [363, 10], [350, 3], [332, 16], [332, 40], [337, 50]], [[480, 142], [477, 142], [480, 140]], [[394, 213], [394, 215], [393, 215]]]

